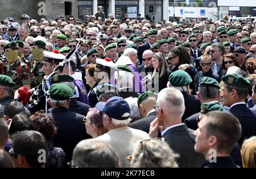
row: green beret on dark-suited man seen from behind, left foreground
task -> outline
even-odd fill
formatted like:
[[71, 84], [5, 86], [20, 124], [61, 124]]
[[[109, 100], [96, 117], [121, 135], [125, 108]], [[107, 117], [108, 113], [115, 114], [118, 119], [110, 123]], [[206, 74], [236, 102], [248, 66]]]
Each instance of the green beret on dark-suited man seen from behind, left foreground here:
[[49, 90], [49, 96], [53, 100], [68, 100], [73, 96], [73, 90], [67, 84], [53, 84]]

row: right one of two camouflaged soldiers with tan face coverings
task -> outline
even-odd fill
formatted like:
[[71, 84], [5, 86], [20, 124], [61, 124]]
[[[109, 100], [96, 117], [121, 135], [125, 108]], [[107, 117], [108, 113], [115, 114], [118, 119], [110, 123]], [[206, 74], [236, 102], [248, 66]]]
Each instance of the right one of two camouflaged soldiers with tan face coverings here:
[[31, 65], [31, 87], [34, 88], [42, 83], [44, 72], [42, 67], [44, 65], [44, 50], [46, 43], [42, 40], [36, 40], [31, 45], [32, 65]]

